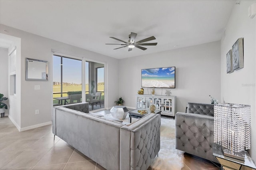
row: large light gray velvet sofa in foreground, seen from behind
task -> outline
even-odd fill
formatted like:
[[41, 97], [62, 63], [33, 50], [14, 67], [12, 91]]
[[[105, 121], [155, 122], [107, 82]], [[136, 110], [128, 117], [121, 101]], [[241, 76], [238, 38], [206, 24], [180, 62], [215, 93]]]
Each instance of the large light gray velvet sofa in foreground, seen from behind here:
[[53, 107], [52, 132], [108, 170], [146, 170], [160, 150], [160, 114], [131, 124], [99, 117], [88, 103]]

